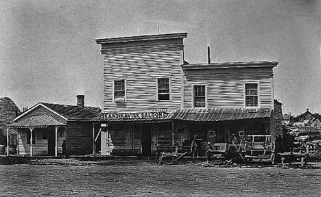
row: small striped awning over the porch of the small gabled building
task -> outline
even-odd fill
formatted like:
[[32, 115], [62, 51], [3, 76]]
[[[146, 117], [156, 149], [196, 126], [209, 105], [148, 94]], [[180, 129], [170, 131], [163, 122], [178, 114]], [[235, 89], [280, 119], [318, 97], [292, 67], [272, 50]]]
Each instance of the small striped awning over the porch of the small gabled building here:
[[66, 125], [62, 122], [59, 122], [52, 116], [40, 115], [40, 116], [31, 116], [25, 118], [19, 122], [10, 124], [11, 128], [28, 128], [28, 127], [48, 127], [48, 126], [59, 126]]

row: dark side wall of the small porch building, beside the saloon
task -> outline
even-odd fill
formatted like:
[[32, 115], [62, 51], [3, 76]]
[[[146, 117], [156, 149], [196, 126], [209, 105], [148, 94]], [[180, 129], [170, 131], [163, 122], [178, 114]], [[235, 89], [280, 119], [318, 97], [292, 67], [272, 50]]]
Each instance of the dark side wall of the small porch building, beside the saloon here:
[[67, 122], [66, 140], [69, 155], [93, 153], [93, 124], [90, 122]]

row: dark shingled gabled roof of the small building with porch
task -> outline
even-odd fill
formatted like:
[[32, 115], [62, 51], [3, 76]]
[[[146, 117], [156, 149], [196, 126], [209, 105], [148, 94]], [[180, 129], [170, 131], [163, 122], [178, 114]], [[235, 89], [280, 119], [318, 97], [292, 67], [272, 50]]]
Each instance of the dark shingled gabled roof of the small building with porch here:
[[37, 107], [45, 107], [46, 109], [52, 111], [54, 114], [60, 116], [65, 120], [90, 120], [91, 118], [97, 116], [100, 113], [101, 109], [99, 107], [82, 107], [78, 105], [62, 105], [55, 103], [37, 103], [25, 113], [21, 114], [14, 120], [19, 120], [21, 117], [25, 116], [29, 112], [33, 111]]

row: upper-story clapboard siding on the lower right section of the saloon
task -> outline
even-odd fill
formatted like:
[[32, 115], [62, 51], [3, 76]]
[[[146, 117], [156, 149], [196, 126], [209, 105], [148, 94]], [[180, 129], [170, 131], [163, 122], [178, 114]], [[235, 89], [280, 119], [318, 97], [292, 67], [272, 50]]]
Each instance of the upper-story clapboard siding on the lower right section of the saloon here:
[[259, 83], [260, 107], [272, 108], [272, 69], [239, 68], [188, 70], [184, 79], [184, 107], [191, 108], [193, 85], [206, 84], [207, 107], [245, 107], [244, 83]]

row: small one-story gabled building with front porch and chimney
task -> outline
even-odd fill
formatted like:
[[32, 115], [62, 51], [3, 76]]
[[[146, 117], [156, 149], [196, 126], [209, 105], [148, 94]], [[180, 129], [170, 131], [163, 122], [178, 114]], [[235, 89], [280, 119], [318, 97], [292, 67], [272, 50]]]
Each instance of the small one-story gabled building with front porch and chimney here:
[[84, 106], [84, 95], [77, 96], [77, 105], [37, 103], [10, 124], [18, 133], [19, 155], [62, 154], [66, 140], [68, 155], [93, 153], [93, 124], [99, 107]]

